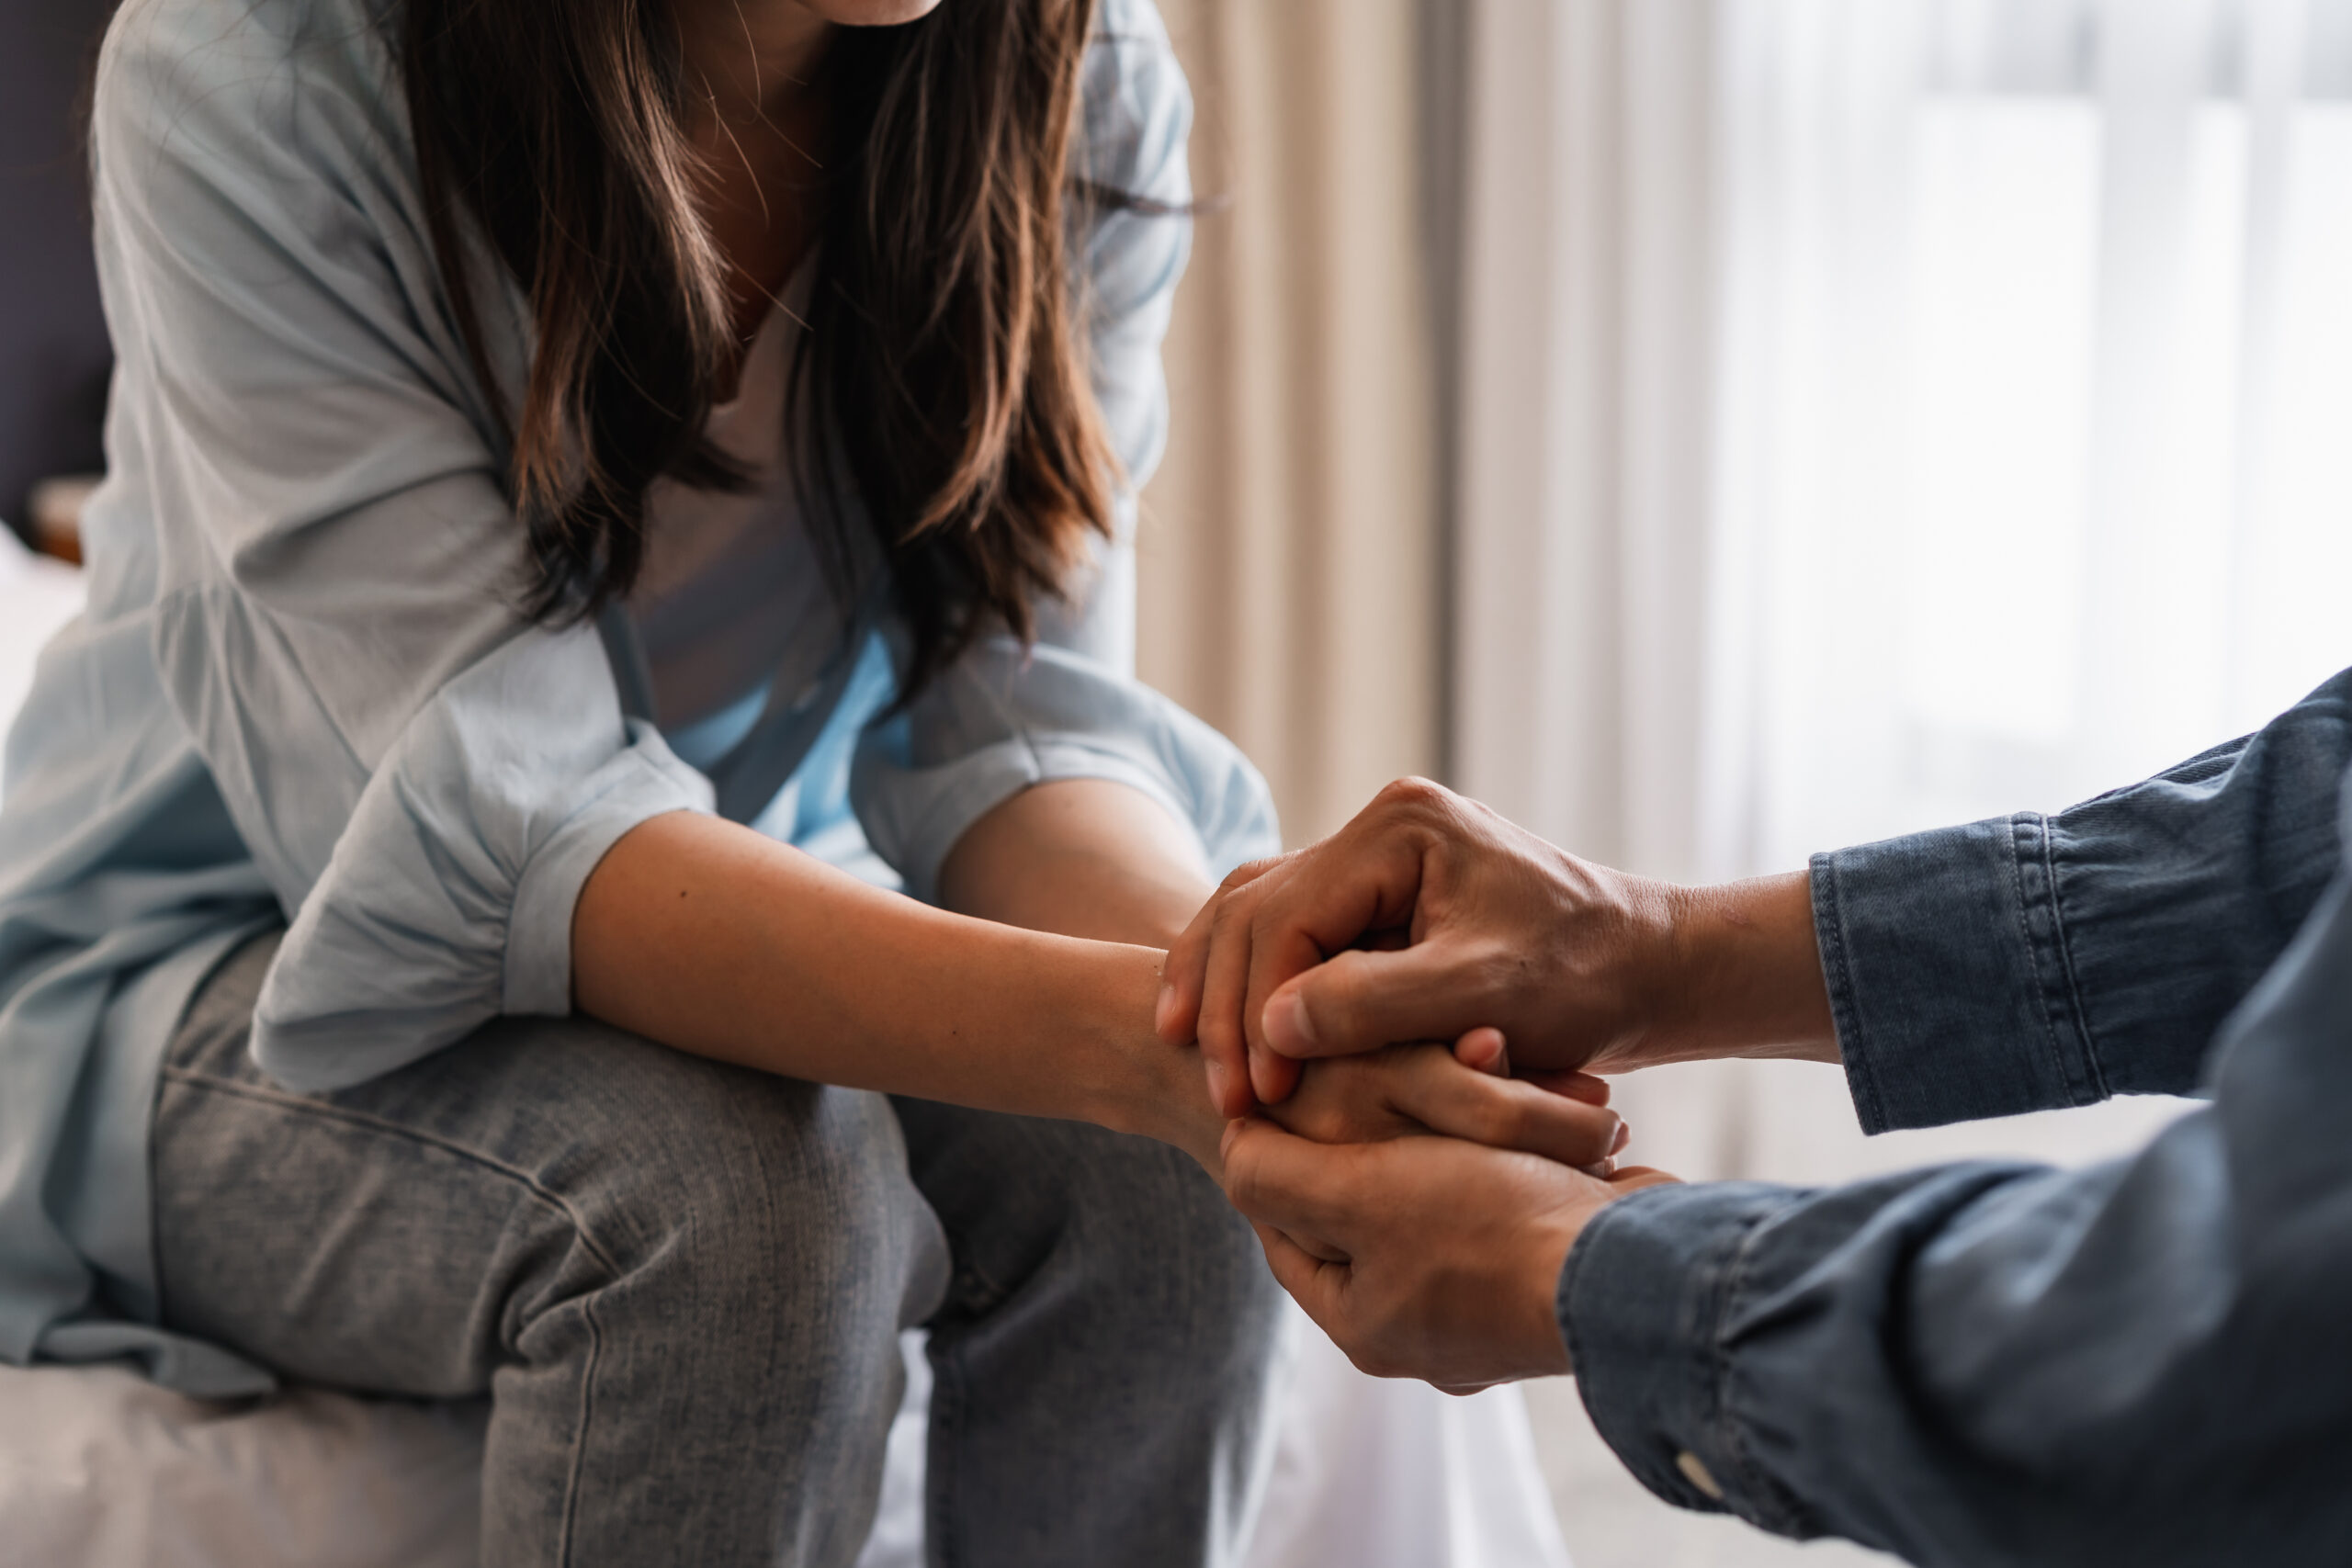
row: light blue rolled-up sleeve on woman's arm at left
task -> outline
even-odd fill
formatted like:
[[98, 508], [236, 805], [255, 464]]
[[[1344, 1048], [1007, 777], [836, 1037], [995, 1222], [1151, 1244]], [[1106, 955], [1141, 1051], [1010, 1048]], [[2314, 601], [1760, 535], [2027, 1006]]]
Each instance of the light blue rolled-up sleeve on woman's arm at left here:
[[129, 569], [158, 576], [165, 686], [289, 919], [254, 1053], [310, 1091], [569, 1011], [588, 872], [710, 795], [623, 719], [595, 632], [520, 611], [524, 534], [381, 42], [306, 28], [134, 5], [94, 132], [115, 458], [160, 538]]

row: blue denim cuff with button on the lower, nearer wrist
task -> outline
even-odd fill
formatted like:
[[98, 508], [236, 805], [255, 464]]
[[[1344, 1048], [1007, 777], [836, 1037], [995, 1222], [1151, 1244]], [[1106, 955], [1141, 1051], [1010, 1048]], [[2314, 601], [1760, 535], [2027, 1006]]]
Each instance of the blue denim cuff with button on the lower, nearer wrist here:
[[1722, 1324], [1757, 1227], [1802, 1197], [1762, 1182], [1635, 1192], [1585, 1225], [1557, 1295], [1576, 1387], [1625, 1469], [1677, 1507], [1780, 1535], [1806, 1533], [1802, 1505], [1750, 1462], [1726, 1413]]

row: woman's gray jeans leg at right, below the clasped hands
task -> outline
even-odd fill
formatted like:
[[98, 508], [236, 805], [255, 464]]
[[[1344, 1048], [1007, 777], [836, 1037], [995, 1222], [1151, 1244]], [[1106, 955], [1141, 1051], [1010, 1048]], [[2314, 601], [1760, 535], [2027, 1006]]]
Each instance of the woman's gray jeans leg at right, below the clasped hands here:
[[1282, 1324], [1249, 1225], [1169, 1145], [896, 1105], [955, 1258], [931, 1319], [934, 1568], [1237, 1561]]

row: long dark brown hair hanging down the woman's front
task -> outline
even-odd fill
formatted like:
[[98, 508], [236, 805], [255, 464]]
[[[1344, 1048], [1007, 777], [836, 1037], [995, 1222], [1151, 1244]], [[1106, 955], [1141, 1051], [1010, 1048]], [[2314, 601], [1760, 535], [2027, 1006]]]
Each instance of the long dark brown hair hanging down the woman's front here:
[[[990, 625], [1035, 630], [1117, 458], [1087, 381], [1065, 221], [1096, 0], [946, 0], [840, 28], [809, 334], [793, 418], [802, 494], [847, 559], [851, 494], [891, 567], [906, 691]], [[644, 559], [659, 477], [750, 480], [703, 428], [731, 360], [727, 268], [696, 212], [684, 61], [666, 0], [400, 0], [433, 244], [475, 371], [475, 223], [529, 294], [534, 357], [508, 489], [527, 602], [593, 614]], [[804, 416], [814, 414], [814, 423]]]

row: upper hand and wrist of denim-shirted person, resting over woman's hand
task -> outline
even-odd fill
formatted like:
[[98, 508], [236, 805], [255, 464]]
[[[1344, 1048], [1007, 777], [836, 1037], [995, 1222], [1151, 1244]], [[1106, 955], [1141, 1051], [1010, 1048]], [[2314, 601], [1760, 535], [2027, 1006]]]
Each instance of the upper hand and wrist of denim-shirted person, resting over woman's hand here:
[[1837, 1060], [1802, 872], [1628, 877], [1425, 780], [1228, 877], [1169, 952], [1155, 1025], [1200, 1039], [1228, 1117], [1284, 1100], [1303, 1058], [1479, 1025], [1522, 1070]]

